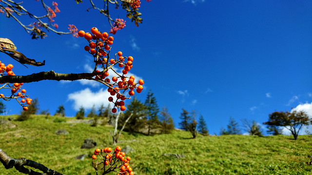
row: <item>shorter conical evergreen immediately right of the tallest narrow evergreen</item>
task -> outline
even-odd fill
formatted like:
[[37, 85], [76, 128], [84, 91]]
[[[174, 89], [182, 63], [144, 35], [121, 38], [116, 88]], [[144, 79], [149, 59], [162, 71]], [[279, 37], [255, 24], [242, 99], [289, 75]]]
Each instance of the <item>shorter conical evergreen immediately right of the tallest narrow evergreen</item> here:
[[169, 134], [175, 129], [174, 121], [168, 112], [168, 108], [164, 106], [160, 111], [161, 133]]

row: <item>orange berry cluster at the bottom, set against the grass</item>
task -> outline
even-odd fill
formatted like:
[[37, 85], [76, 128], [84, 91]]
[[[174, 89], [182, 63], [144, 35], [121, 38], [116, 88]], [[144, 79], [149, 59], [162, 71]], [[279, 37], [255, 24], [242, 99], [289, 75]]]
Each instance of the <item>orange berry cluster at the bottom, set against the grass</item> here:
[[[125, 153], [121, 151], [121, 147], [117, 146], [112, 154], [112, 148], [104, 148], [99, 149], [97, 148], [94, 151], [94, 155], [92, 156], [92, 165], [95, 170], [102, 170], [103, 175], [114, 171], [118, 173], [118, 175], [134, 175], [132, 168], [129, 166], [129, 161], [131, 157], [125, 157]], [[95, 162], [99, 156], [102, 160], [99, 160], [98, 163]]]

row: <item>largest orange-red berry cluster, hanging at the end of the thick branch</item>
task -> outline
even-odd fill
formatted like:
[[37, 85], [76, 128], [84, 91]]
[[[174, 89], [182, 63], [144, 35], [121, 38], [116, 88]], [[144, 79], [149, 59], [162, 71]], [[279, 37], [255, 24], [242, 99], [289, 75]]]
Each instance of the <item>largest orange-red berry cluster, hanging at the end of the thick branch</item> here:
[[[136, 89], [137, 93], [140, 93], [144, 84], [143, 80], [138, 80], [136, 83], [133, 75], [130, 77], [125, 76], [132, 69], [134, 58], [132, 56], [122, 56], [122, 52], [120, 51], [115, 54], [114, 58], [110, 58], [111, 45], [113, 44], [114, 37], [109, 36], [106, 32], [102, 33], [98, 31], [96, 27], [91, 29], [91, 33], [85, 33], [80, 30], [78, 31], [78, 35], [84, 37], [89, 42], [89, 45], [85, 46], [84, 50], [94, 57], [94, 73], [96, 74], [94, 80], [108, 87], [108, 92], [111, 94], [108, 101], [114, 103], [112, 112], [116, 113], [117, 108], [124, 111], [126, 109], [124, 100], [130, 99], [135, 94], [134, 89]], [[102, 71], [98, 70], [98, 65], [101, 66]], [[115, 65], [123, 68], [122, 73], [118, 73], [113, 69]], [[108, 78], [108, 70], [110, 69], [113, 70], [116, 76]], [[128, 89], [129, 97], [127, 97], [126, 93]]]

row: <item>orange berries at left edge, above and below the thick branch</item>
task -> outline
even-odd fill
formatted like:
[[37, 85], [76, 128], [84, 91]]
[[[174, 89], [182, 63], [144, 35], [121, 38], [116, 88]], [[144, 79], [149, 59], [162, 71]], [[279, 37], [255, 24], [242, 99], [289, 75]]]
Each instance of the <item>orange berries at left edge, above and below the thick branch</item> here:
[[[7, 66], [5, 66], [5, 64], [1, 63], [1, 61], [0, 61], [0, 76], [3, 76], [3, 75], [15, 76], [12, 69], [13, 69], [12, 64], [8, 64]], [[6, 87], [6, 85], [8, 85], [8, 87]], [[28, 110], [27, 105], [31, 104], [32, 99], [26, 98], [26, 97], [28, 97], [28, 95], [25, 95], [25, 93], [26, 93], [25, 89], [21, 89], [22, 85], [23, 85], [23, 83], [14, 83], [13, 85], [10, 85], [9, 83], [5, 83], [2, 87], [0, 87], [0, 89], [1, 88], [11, 89], [11, 95], [6, 97], [6, 96], [4, 96], [4, 94], [1, 93], [0, 98], [2, 98], [3, 100], [6, 100], [6, 101], [9, 101], [11, 99], [16, 99], [17, 102], [21, 106], [23, 106], [23, 110]], [[21, 98], [20, 101], [19, 101], [19, 98]]]

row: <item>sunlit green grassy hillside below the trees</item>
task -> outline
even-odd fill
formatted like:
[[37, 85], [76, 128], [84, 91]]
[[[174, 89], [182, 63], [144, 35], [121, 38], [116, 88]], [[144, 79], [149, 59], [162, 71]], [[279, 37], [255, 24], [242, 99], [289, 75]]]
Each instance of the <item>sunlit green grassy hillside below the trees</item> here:
[[[7, 117], [6, 117], [7, 118]], [[24, 122], [13, 121], [17, 127], [0, 126], [0, 148], [10, 157], [26, 157], [66, 175], [95, 175], [91, 158], [75, 160], [78, 155], [94, 149], [80, 149], [84, 139], [91, 138], [99, 148], [114, 147], [109, 134], [112, 126], [92, 127], [85, 123], [56, 122], [50, 116], [33, 116]], [[62, 118], [64, 119], [64, 118]], [[61, 121], [61, 120], [58, 120]], [[66, 129], [68, 135], [56, 135]], [[136, 175], [312, 175], [312, 136], [253, 137], [242, 135], [198, 136], [185, 131], [168, 135], [143, 136], [123, 133], [118, 143], [129, 145], [135, 152], [131, 166]], [[176, 158], [164, 154], [183, 154]], [[1, 175], [20, 175], [0, 164]]]

